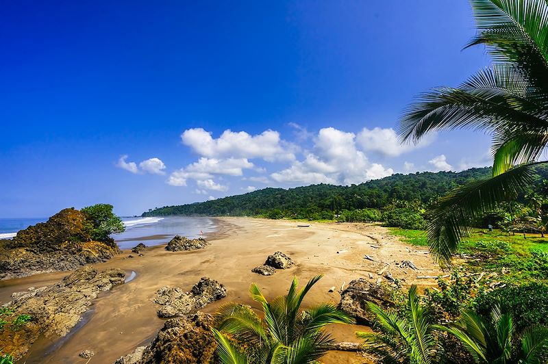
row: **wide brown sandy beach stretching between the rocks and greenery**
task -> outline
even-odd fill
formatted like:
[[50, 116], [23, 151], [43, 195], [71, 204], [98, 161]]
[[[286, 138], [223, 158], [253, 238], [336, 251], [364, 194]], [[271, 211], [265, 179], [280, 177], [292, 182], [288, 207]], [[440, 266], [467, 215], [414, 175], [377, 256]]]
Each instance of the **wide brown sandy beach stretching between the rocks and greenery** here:
[[[203, 250], [168, 252], [161, 245], [147, 248], [143, 257], [128, 258], [130, 252], [125, 250], [106, 263], [96, 264], [98, 269], [116, 267], [125, 270], [127, 277], [132, 271], [136, 276], [129, 283], [99, 296], [84, 322], [68, 339], [62, 339], [62, 345], [46, 339], [35, 343], [26, 363], [86, 363], [87, 359], [78, 356], [86, 349], [95, 351], [90, 364], [113, 363], [137, 346], [151, 341], [162, 327], [164, 320], [155, 313], [158, 306], [150, 300], [158, 288], [171, 285], [190, 289], [202, 276], [216, 279], [227, 288], [226, 298], [201, 310], [212, 313], [220, 304], [231, 300], [258, 309], [258, 304], [251, 301], [248, 294], [253, 282], [258, 283], [267, 298], [273, 298], [286, 293], [293, 276], [297, 276], [302, 285], [312, 276], [323, 274], [308, 294], [304, 302], [306, 307], [317, 302], [338, 302], [340, 295], [329, 293], [329, 287], [340, 289], [343, 283], [348, 284], [356, 278], [371, 279], [369, 272], [373, 274], [371, 281], [376, 281], [380, 277], [377, 272], [384, 263], [391, 263], [388, 270], [395, 278], [405, 279], [406, 285], [433, 285], [434, 280], [418, 280], [416, 276], [440, 274], [422, 248], [399, 242], [380, 226], [312, 222], [310, 227], [301, 228], [297, 227], [298, 222], [288, 220], [219, 218], [216, 221], [219, 232], [210, 235], [212, 245]], [[273, 276], [251, 272], [277, 250], [290, 255], [297, 265], [277, 270]], [[363, 259], [364, 255], [377, 262]], [[394, 264], [402, 260], [412, 261], [419, 270], [403, 270]], [[0, 282], [0, 300], [9, 300], [14, 291], [55, 283], [68, 273], [40, 274]], [[337, 341], [356, 342], [353, 335], [356, 330], [369, 328], [340, 325], [332, 327], [330, 332]], [[51, 351], [53, 346], [55, 350]], [[364, 359], [354, 353], [329, 352], [322, 361], [363, 363]]]

